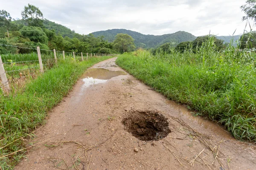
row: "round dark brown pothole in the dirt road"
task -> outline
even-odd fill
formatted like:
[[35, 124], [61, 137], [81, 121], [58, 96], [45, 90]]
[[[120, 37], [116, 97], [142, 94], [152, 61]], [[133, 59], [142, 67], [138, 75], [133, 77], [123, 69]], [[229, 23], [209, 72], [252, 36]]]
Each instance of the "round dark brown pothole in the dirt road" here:
[[132, 111], [122, 123], [125, 130], [142, 141], [158, 141], [171, 132], [166, 117], [156, 111]]

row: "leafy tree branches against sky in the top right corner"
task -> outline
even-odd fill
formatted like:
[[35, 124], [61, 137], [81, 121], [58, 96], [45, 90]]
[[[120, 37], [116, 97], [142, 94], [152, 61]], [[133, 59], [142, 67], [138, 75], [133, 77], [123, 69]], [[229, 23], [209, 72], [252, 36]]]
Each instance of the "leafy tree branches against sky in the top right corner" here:
[[256, 22], [256, 0], [247, 0], [246, 4], [240, 7], [242, 11], [246, 14], [242, 17], [242, 20], [252, 19]]

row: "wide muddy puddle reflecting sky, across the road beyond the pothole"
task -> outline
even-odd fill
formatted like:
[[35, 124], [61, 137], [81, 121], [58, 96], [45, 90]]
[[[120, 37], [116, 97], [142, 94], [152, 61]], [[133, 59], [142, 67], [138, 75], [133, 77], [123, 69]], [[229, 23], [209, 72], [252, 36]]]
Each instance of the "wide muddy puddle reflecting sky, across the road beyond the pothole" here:
[[126, 73], [123, 71], [110, 71], [104, 68], [89, 69], [82, 76], [82, 81], [84, 82], [83, 88], [87, 88], [90, 85], [107, 82], [108, 79], [120, 75], [126, 75]]

